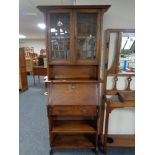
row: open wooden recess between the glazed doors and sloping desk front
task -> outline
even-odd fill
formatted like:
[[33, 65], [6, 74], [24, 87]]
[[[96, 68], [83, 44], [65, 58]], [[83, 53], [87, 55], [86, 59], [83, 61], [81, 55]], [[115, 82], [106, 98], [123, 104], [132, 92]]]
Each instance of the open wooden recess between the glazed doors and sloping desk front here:
[[98, 79], [98, 66], [49, 66], [49, 79]]

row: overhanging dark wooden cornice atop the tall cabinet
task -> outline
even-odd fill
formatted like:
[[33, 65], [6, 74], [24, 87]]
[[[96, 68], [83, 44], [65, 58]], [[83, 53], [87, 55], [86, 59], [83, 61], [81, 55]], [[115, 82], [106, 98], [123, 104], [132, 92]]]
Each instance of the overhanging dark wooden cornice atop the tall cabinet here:
[[37, 6], [40, 11], [46, 12], [51, 9], [104, 9], [107, 11], [111, 5], [43, 5]]

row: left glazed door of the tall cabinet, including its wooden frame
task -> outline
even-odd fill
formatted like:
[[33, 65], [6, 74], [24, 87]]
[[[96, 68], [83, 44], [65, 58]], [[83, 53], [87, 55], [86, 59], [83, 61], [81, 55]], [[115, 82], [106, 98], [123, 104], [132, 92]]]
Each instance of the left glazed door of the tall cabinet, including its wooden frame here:
[[72, 61], [72, 12], [63, 10], [48, 14], [49, 63], [69, 64]]

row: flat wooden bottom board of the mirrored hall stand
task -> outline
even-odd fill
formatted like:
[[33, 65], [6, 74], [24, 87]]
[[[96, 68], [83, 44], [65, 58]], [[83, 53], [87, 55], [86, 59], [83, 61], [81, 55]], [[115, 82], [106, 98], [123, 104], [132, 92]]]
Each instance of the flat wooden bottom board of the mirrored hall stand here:
[[113, 139], [112, 143], [107, 143], [108, 147], [135, 147], [135, 135], [108, 135]]

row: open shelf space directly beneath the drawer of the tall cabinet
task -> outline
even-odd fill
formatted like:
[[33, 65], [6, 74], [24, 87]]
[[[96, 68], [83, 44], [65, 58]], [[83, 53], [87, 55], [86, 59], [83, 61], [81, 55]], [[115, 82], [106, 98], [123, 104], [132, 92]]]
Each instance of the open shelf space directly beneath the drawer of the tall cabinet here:
[[53, 122], [53, 133], [96, 133], [94, 121], [57, 120]]

